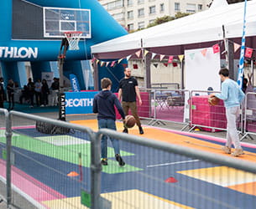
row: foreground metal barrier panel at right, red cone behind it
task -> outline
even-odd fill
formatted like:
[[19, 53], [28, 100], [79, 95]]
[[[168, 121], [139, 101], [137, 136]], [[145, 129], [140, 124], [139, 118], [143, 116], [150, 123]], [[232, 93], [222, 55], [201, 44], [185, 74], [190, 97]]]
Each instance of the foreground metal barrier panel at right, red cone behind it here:
[[252, 208], [256, 201], [255, 163], [107, 129], [97, 132], [98, 146], [102, 135], [120, 141], [126, 162], [118, 167], [112, 152], [102, 166], [95, 196], [108, 200], [106, 208]]

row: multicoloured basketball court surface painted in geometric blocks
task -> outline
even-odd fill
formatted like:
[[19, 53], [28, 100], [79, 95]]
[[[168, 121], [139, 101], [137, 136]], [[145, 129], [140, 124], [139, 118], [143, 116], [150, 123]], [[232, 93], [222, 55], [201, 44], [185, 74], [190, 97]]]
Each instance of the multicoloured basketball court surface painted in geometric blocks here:
[[[97, 120], [76, 120], [97, 131]], [[123, 124], [117, 122], [118, 131]], [[138, 127], [129, 130], [139, 135]], [[223, 139], [144, 126], [144, 137], [225, 155]], [[5, 135], [0, 130], [0, 180], [5, 179]], [[34, 126], [13, 135], [13, 186], [34, 205], [87, 208], [81, 191], [90, 191], [91, 141], [85, 133], [44, 135]], [[256, 162], [255, 146], [243, 143], [244, 161]], [[112, 208], [251, 208], [256, 202], [256, 175], [182, 155], [120, 141], [126, 166], [118, 166], [108, 144], [102, 166], [102, 197]], [[74, 174], [74, 175], [73, 175]], [[240, 201], [238, 201], [240, 200]], [[241, 201], [242, 200], [242, 201]]]

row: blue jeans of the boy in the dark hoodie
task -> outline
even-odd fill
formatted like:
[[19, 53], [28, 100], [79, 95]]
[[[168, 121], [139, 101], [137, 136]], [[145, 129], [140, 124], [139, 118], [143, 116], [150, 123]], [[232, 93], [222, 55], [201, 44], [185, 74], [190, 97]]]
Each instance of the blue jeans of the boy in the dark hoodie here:
[[[107, 128], [110, 130], [117, 130], [116, 121], [111, 119], [100, 119], [98, 120], [99, 129]], [[119, 141], [109, 137], [114, 148], [115, 155], [120, 154]], [[107, 136], [102, 136], [102, 158], [107, 158]]]

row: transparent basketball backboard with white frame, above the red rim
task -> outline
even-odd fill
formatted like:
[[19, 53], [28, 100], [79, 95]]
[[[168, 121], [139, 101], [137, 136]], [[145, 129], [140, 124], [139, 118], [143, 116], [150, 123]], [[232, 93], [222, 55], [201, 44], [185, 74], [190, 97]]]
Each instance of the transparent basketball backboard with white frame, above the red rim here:
[[44, 8], [44, 38], [63, 38], [65, 32], [81, 31], [91, 38], [91, 11], [78, 8]]

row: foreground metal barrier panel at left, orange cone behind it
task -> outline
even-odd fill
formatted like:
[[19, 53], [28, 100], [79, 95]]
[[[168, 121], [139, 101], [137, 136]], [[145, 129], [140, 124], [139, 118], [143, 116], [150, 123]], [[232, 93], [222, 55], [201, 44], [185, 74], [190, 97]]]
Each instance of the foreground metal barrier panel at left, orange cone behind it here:
[[[45, 130], [47, 126], [55, 128], [53, 135], [39, 132], [38, 123], [43, 123]], [[91, 194], [91, 186], [95, 187], [91, 181], [92, 130], [17, 111], [8, 113], [6, 127], [0, 164], [1, 171], [7, 171], [4, 199], [8, 206], [80, 208], [82, 196]], [[60, 127], [65, 134], [60, 134]], [[6, 156], [3, 150], [7, 150]]]

